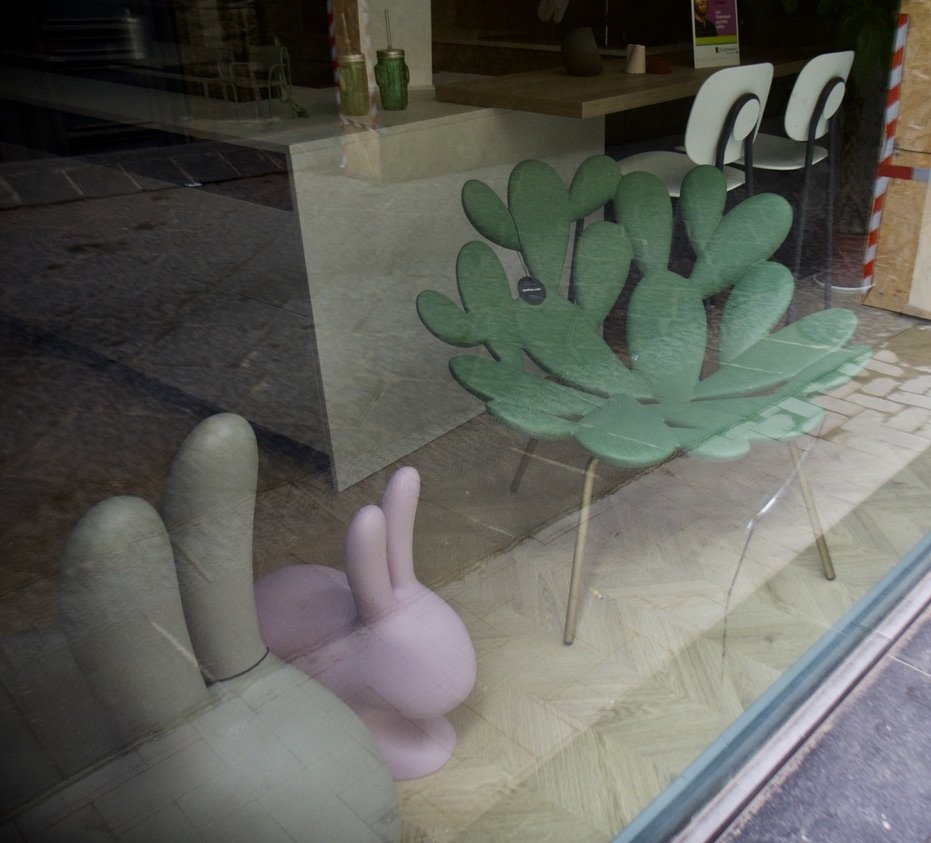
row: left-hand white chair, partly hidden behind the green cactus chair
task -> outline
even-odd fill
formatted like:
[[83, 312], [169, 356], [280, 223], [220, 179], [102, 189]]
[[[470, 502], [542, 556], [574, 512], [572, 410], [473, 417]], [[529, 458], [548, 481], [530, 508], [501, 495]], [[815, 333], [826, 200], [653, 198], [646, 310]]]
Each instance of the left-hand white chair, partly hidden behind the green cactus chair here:
[[714, 164], [726, 178], [727, 189], [743, 184], [753, 194], [753, 169], [728, 166], [753, 160], [753, 140], [760, 127], [773, 66], [769, 62], [715, 71], [699, 88], [685, 127], [683, 152], [655, 150], [622, 158], [622, 173], [645, 171], [658, 176], [669, 195], [678, 197], [682, 180], [699, 164]]

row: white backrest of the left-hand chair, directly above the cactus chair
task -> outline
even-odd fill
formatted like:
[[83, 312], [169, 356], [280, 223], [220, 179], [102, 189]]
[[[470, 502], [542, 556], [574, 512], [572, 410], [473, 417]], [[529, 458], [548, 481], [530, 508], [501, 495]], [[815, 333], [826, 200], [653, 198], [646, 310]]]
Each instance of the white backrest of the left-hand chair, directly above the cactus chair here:
[[[769, 62], [725, 67], [712, 73], [698, 89], [689, 112], [685, 127], [689, 158], [696, 164], [718, 165], [740, 158], [744, 141], [756, 137], [772, 81]], [[722, 133], [727, 135], [723, 139]]]

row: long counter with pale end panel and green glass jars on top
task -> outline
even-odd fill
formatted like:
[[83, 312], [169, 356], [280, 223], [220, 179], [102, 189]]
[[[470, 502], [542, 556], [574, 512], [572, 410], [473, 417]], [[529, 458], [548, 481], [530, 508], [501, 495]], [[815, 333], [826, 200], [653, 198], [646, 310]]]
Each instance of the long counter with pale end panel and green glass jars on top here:
[[[415, 309], [421, 290], [455, 293], [456, 256], [477, 236], [460, 204], [463, 184], [477, 178], [503, 193], [527, 158], [547, 161], [568, 184], [604, 149], [603, 118], [440, 103], [432, 87], [412, 87], [404, 111], [374, 112], [353, 126], [340, 121], [332, 90], [296, 90], [308, 116], [271, 121], [236, 119], [233, 103], [208, 109], [200, 97], [27, 70], [4, 70], [0, 90], [23, 104], [127, 124], [156, 115], [161, 131], [285, 157], [293, 212], [145, 180], [136, 189], [164, 191], [158, 207], [171, 206], [162, 216], [178, 229], [141, 281], [120, 287], [122, 309], [105, 277], [66, 260], [63, 239], [53, 245], [67, 281], [50, 275], [47, 296], [33, 289], [13, 315], [324, 452], [338, 489], [481, 411], [449, 376], [454, 352]], [[154, 207], [127, 201], [111, 212], [144, 214], [151, 227]], [[90, 233], [98, 216], [82, 236], [104, 236]], [[135, 238], [120, 248], [145, 246]], [[523, 268], [513, 255], [505, 261], [516, 283]], [[169, 329], [151, 336], [139, 324], [149, 285], [171, 316]], [[64, 306], [78, 290], [114, 318], [62, 325], [45, 312], [44, 302]]]

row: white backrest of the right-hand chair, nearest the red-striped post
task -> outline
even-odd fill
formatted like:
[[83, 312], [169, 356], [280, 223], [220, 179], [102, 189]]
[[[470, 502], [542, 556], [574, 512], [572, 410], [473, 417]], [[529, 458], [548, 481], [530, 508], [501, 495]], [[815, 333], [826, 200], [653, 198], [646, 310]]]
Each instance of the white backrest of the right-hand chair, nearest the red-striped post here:
[[[817, 117], [812, 139], [822, 137], [844, 99], [853, 50], [822, 53], [799, 72], [786, 105], [785, 130], [792, 140], [807, 141], [812, 119]], [[824, 94], [824, 97], [822, 97]], [[815, 112], [823, 102], [820, 115]]]

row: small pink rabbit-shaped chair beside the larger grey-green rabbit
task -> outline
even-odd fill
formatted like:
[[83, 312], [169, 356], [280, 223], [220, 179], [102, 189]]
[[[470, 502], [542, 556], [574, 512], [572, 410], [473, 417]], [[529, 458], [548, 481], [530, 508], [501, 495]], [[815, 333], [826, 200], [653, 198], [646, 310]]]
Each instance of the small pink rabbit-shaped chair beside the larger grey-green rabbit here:
[[369, 727], [395, 779], [442, 767], [456, 746], [444, 716], [475, 684], [459, 616], [414, 574], [420, 477], [398, 470], [381, 506], [349, 525], [343, 574], [293, 565], [255, 584], [269, 649], [314, 677]]

